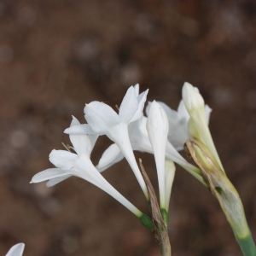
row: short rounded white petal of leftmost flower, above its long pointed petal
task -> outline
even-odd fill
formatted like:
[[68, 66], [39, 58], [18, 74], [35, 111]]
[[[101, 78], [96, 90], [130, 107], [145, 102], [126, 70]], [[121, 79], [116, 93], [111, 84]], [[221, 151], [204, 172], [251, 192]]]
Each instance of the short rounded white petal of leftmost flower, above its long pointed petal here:
[[63, 170], [70, 170], [73, 168], [73, 161], [78, 158], [77, 154], [73, 154], [66, 150], [52, 150], [49, 154], [49, 161], [56, 167]]

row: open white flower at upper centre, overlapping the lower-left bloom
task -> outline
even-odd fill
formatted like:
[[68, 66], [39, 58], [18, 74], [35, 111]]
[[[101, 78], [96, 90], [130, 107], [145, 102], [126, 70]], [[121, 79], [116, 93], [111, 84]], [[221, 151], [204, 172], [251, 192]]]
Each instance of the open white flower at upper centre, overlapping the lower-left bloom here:
[[[103, 102], [90, 102], [85, 105], [84, 113], [87, 123], [91, 130], [98, 135], [107, 135], [117, 144], [125, 159], [131, 166], [132, 171], [137, 177], [137, 181], [143, 189], [143, 193], [148, 199], [148, 191], [143, 176], [137, 166], [137, 161], [131, 148], [131, 142], [128, 135], [127, 125], [140, 119], [143, 115], [143, 107], [146, 101], [148, 90], [138, 95], [138, 84], [131, 86], [120, 105], [119, 113], [110, 108]], [[72, 127], [67, 129], [66, 133], [90, 133], [83, 130], [84, 127]]]

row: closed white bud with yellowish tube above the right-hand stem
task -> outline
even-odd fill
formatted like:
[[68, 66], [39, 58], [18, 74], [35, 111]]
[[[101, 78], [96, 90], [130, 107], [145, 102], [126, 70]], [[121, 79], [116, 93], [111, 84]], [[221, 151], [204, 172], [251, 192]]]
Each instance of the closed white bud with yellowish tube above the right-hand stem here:
[[217, 150], [212, 141], [211, 132], [207, 125], [207, 112], [205, 109], [205, 102], [201, 96], [199, 90], [197, 90], [193, 85], [189, 83], [183, 84], [183, 102], [189, 113], [189, 135], [190, 137], [195, 137], [202, 143], [204, 143], [207, 148], [212, 152], [215, 159], [218, 161], [219, 166], [221, 166], [222, 171], [224, 168], [218, 157]]

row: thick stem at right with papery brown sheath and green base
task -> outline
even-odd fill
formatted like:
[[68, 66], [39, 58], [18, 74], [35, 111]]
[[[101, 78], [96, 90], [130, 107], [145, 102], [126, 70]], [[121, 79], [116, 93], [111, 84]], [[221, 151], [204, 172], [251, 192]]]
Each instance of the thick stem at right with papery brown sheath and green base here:
[[189, 139], [186, 145], [196, 164], [200, 167], [208, 189], [218, 199], [243, 255], [256, 256], [256, 247], [236, 188], [206, 145], [196, 139]]

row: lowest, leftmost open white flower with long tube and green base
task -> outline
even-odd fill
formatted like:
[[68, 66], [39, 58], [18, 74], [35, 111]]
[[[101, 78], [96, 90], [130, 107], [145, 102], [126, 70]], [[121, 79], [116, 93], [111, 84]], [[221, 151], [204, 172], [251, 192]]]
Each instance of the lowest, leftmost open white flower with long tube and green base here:
[[[79, 125], [79, 121], [73, 117], [72, 125]], [[53, 186], [60, 183], [67, 177], [77, 176], [96, 185], [108, 195], [119, 201], [123, 206], [133, 212], [138, 218], [143, 216], [137, 207], [134, 207], [130, 201], [127, 201], [108, 181], [102, 177], [100, 172], [90, 160], [91, 150], [96, 142], [96, 135], [77, 135], [70, 134], [70, 140], [73, 143], [73, 150], [76, 154], [65, 150], [52, 150], [49, 154], [49, 160], [57, 167], [39, 172], [32, 177], [31, 183], [39, 183], [49, 180], [47, 186]]]

